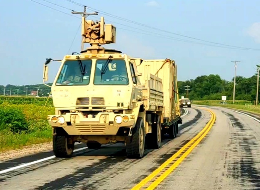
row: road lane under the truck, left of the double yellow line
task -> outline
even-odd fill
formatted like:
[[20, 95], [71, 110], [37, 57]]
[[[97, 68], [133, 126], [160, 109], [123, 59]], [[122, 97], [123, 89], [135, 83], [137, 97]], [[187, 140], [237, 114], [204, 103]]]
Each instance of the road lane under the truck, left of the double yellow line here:
[[2, 174], [0, 189], [130, 189], [177, 152], [210, 119], [206, 110], [187, 110], [189, 114], [179, 126], [179, 136], [172, 141], [165, 139], [159, 150], [147, 150], [143, 159], [126, 159], [121, 144], [79, 151], [70, 159], [54, 158]]

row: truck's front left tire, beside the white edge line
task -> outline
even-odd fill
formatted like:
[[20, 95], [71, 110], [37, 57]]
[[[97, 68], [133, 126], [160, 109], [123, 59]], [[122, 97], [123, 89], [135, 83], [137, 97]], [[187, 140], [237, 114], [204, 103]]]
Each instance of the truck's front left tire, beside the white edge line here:
[[57, 158], [68, 158], [72, 156], [74, 145], [68, 144], [68, 138], [65, 136], [53, 136], [53, 153]]

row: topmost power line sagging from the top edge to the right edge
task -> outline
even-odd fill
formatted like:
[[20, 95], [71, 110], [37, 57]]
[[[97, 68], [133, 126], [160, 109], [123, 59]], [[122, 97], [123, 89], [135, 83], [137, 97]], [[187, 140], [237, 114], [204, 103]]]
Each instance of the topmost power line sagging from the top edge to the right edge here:
[[[72, 3], [74, 3], [74, 4], [76, 4], [76, 5], [79, 5], [79, 6], [85, 6], [85, 5], [83, 5], [83, 4], [77, 3], [77, 2], [72, 1], [72, 0], [66, 0], [66, 1], [72, 2]], [[100, 10], [98, 10], [98, 9], [94, 9], [94, 8], [92, 8], [92, 7], [89, 7], [89, 6], [86, 6], [86, 7], [89, 8], [89, 9], [92, 9], [92, 10], [96, 10], [96, 11], [98, 11], [98, 12], [100, 12], [100, 13], [102, 13], [102, 14], [105, 14], [105, 15], [107, 15], [107, 16], [111, 16], [111, 17], [116, 18], [116, 19], [124, 20], [124, 21], [126, 21], [126, 22], [134, 23], [134, 24], [137, 24], [137, 25], [140, 25], [140, 26], [143, 26], [143, 27], [151, 28], [151, 29], [154, 29], [154, 30], [156, 30], [156, 31], [163, 31], [163, 32], [166, 32], [166, 33], [170, 33], [170, 34], [173, 34], [173, 35], [182, 36], [182, 37], [185, 37], [185, 38], [195, 39], [195, 40], [199, 40], [199, 41], [203, 41], [203, 42], [207, 42], [207, 43], [214, 43], [214, 44], [218, 44], [218, 45], [224, 45], [224, 46], [228, 46], [228, 47], [236, 47], [236, 48], [241, 48], [241, 49], [257, 50], [257, 51], [260, 50], [260, 49], [255, 49], [255, 48], [232, 46], [232, 45], [228, 45], [228, 44], [224, 44], [224, 43], [216, 43], [216, 42], [212, 42], [212, 41], [208, 41], [208, 40], [203, 40], [203, 39], [199, 39], [199, 38], [194, 38], [194, 37], [191, 37], [191, 36], [182, 35], [182, 34], [178, 34], [178, 33], [175, 33], [175, 32], [162, 30], [162, 29], [160, 29], [160, 28], [151, 27], [151, 26], [148, 26], [148, 25], [145, 25], [145, 24], [142, 24], [142, 23], [138, 23], [138, 22], [135, 22], [135, 21], [132, 21], [132, 20], [129, 20], [129, 19], [125, 19], [125, 18], [116, 16], [116, 15], [113, 15], [113, 14], [110, 14], [110, 13], [107, 13], [107, 12], [104, 12], [104, 11], [100, 11]]]

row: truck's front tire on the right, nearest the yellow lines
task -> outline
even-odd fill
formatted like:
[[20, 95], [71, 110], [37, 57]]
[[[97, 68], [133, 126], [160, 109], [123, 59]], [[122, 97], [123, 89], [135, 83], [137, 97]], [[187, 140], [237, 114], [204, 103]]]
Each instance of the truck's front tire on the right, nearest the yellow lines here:
[[145, 130], [143, 118], [138, 117], [135, 127], [133, 128], [132, 137], [130, 142], [126, 142], [126, 156], [127, 158], [143, 157], [145, 145]]

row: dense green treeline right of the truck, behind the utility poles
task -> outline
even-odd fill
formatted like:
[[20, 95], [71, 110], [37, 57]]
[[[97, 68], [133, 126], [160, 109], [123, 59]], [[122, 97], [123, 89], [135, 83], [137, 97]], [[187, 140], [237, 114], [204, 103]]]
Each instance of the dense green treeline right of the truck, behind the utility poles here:
[[[191, 100], [221, 100], [221, 96], [227, 96], [227, 100], [233, 99], [233, 83], [221, 79], [219, 75], [203, 75], [188, 81], [178, 81], [179, 96], [186, 97], [188, 89], [188, 97]], [[247, 100], [254, 102], [256, 100], [257, 76], [253, 75], [250, 78], [243, 76], [236, 77], [236, 100]], [[258, 93], [259, 94], [259, 93]], [[260, 95], [258, 95], [258, 101]]]

